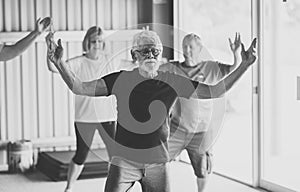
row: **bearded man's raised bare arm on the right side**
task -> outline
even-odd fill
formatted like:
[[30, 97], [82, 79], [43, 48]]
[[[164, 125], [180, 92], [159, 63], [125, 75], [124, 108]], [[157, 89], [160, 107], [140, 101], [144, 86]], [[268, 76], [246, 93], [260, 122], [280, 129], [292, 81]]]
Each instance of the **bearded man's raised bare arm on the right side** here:
[[222, 81], [219, 81], [216, 85], [205, 85], [199, 83], [196, 97], [199, 99], [218, 98], [226, 93], [256, 60], [256, 56], [254, 55], [255, 46], [256, 38], [252, 41], [251, 46], [247, 51], [245, 51], [245, 47], [242, 44], [242, 62], [239, 67]]

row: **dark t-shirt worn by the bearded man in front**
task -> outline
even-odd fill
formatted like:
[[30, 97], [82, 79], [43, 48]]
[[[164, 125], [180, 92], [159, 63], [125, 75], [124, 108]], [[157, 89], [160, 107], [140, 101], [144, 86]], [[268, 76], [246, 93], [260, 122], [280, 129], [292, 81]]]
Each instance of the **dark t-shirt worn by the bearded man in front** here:
[[116, 156], [141, 163], [168, 161], [168, 114], [177, 97], [189, 98], [198, 83], [169, 72], [154, 79], [138, 69], [103, 77], [117, 98]]

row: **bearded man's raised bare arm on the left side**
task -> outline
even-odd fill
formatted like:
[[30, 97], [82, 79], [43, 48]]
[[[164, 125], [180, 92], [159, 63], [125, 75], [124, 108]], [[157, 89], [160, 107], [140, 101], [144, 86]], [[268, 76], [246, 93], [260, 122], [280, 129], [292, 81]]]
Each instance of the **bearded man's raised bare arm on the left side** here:
[[86, 96], [106, 96], [108, 91], [105, 81], [103, 79], [97, 79], [90, 82], [82, 82], [65, 64], [62, 60], [63, 47], [61, 40], [58, 40], [58, 45], [52, 40], [51, 47], [48, 46], [48, 58], [54, 63], [58, 72], [62, 76], [63, 80], [69, 87], [69, 89], [76, 95]]

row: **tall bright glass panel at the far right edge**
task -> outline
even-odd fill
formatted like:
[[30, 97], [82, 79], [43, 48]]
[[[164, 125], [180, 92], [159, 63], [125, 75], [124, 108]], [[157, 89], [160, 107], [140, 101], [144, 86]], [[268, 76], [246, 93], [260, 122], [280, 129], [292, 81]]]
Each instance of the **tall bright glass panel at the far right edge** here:
[[263, 2], [261, 185], [300, 191], [300, 0]]

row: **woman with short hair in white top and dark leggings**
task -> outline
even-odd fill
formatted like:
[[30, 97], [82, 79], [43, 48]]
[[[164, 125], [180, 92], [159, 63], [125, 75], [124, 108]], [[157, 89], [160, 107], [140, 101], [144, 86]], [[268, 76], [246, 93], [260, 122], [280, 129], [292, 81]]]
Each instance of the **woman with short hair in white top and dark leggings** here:
[[[52, 49], [56, 45], [53, 33], [49, 32], [46, 37], [48, 55], [52, 54]], [[77, 56], [66, 61], [71, 73], [82, 81], [91, 81], [114, 72], [116, 69], [108, 61], [105, 55], [105, 42], [103, 41], [103, 31], [98, 26], [90, 27], [82, 42], [83, 55]], [[51, 57], [50, 57], [51, 58]], [[48, 68], [52, 72], [57, 72], [47, 57]], [[84, 97], [75, 95], [75, 134], [76, 134], [76, 153], [73, 156], [67, 176], [67, 186], [65, 191], [70, 192], [73, 184], [79, 177], [86, 162], [88, 152], [91, 148], [94, 133], [97, 130], [106, 146], [109, 158], [111, 159], [112, 143], [110, 140], [115, 136], [116, 121], [116, 101], [114, 97]], [[104, 158], [104, 157], [103, 157]]]

